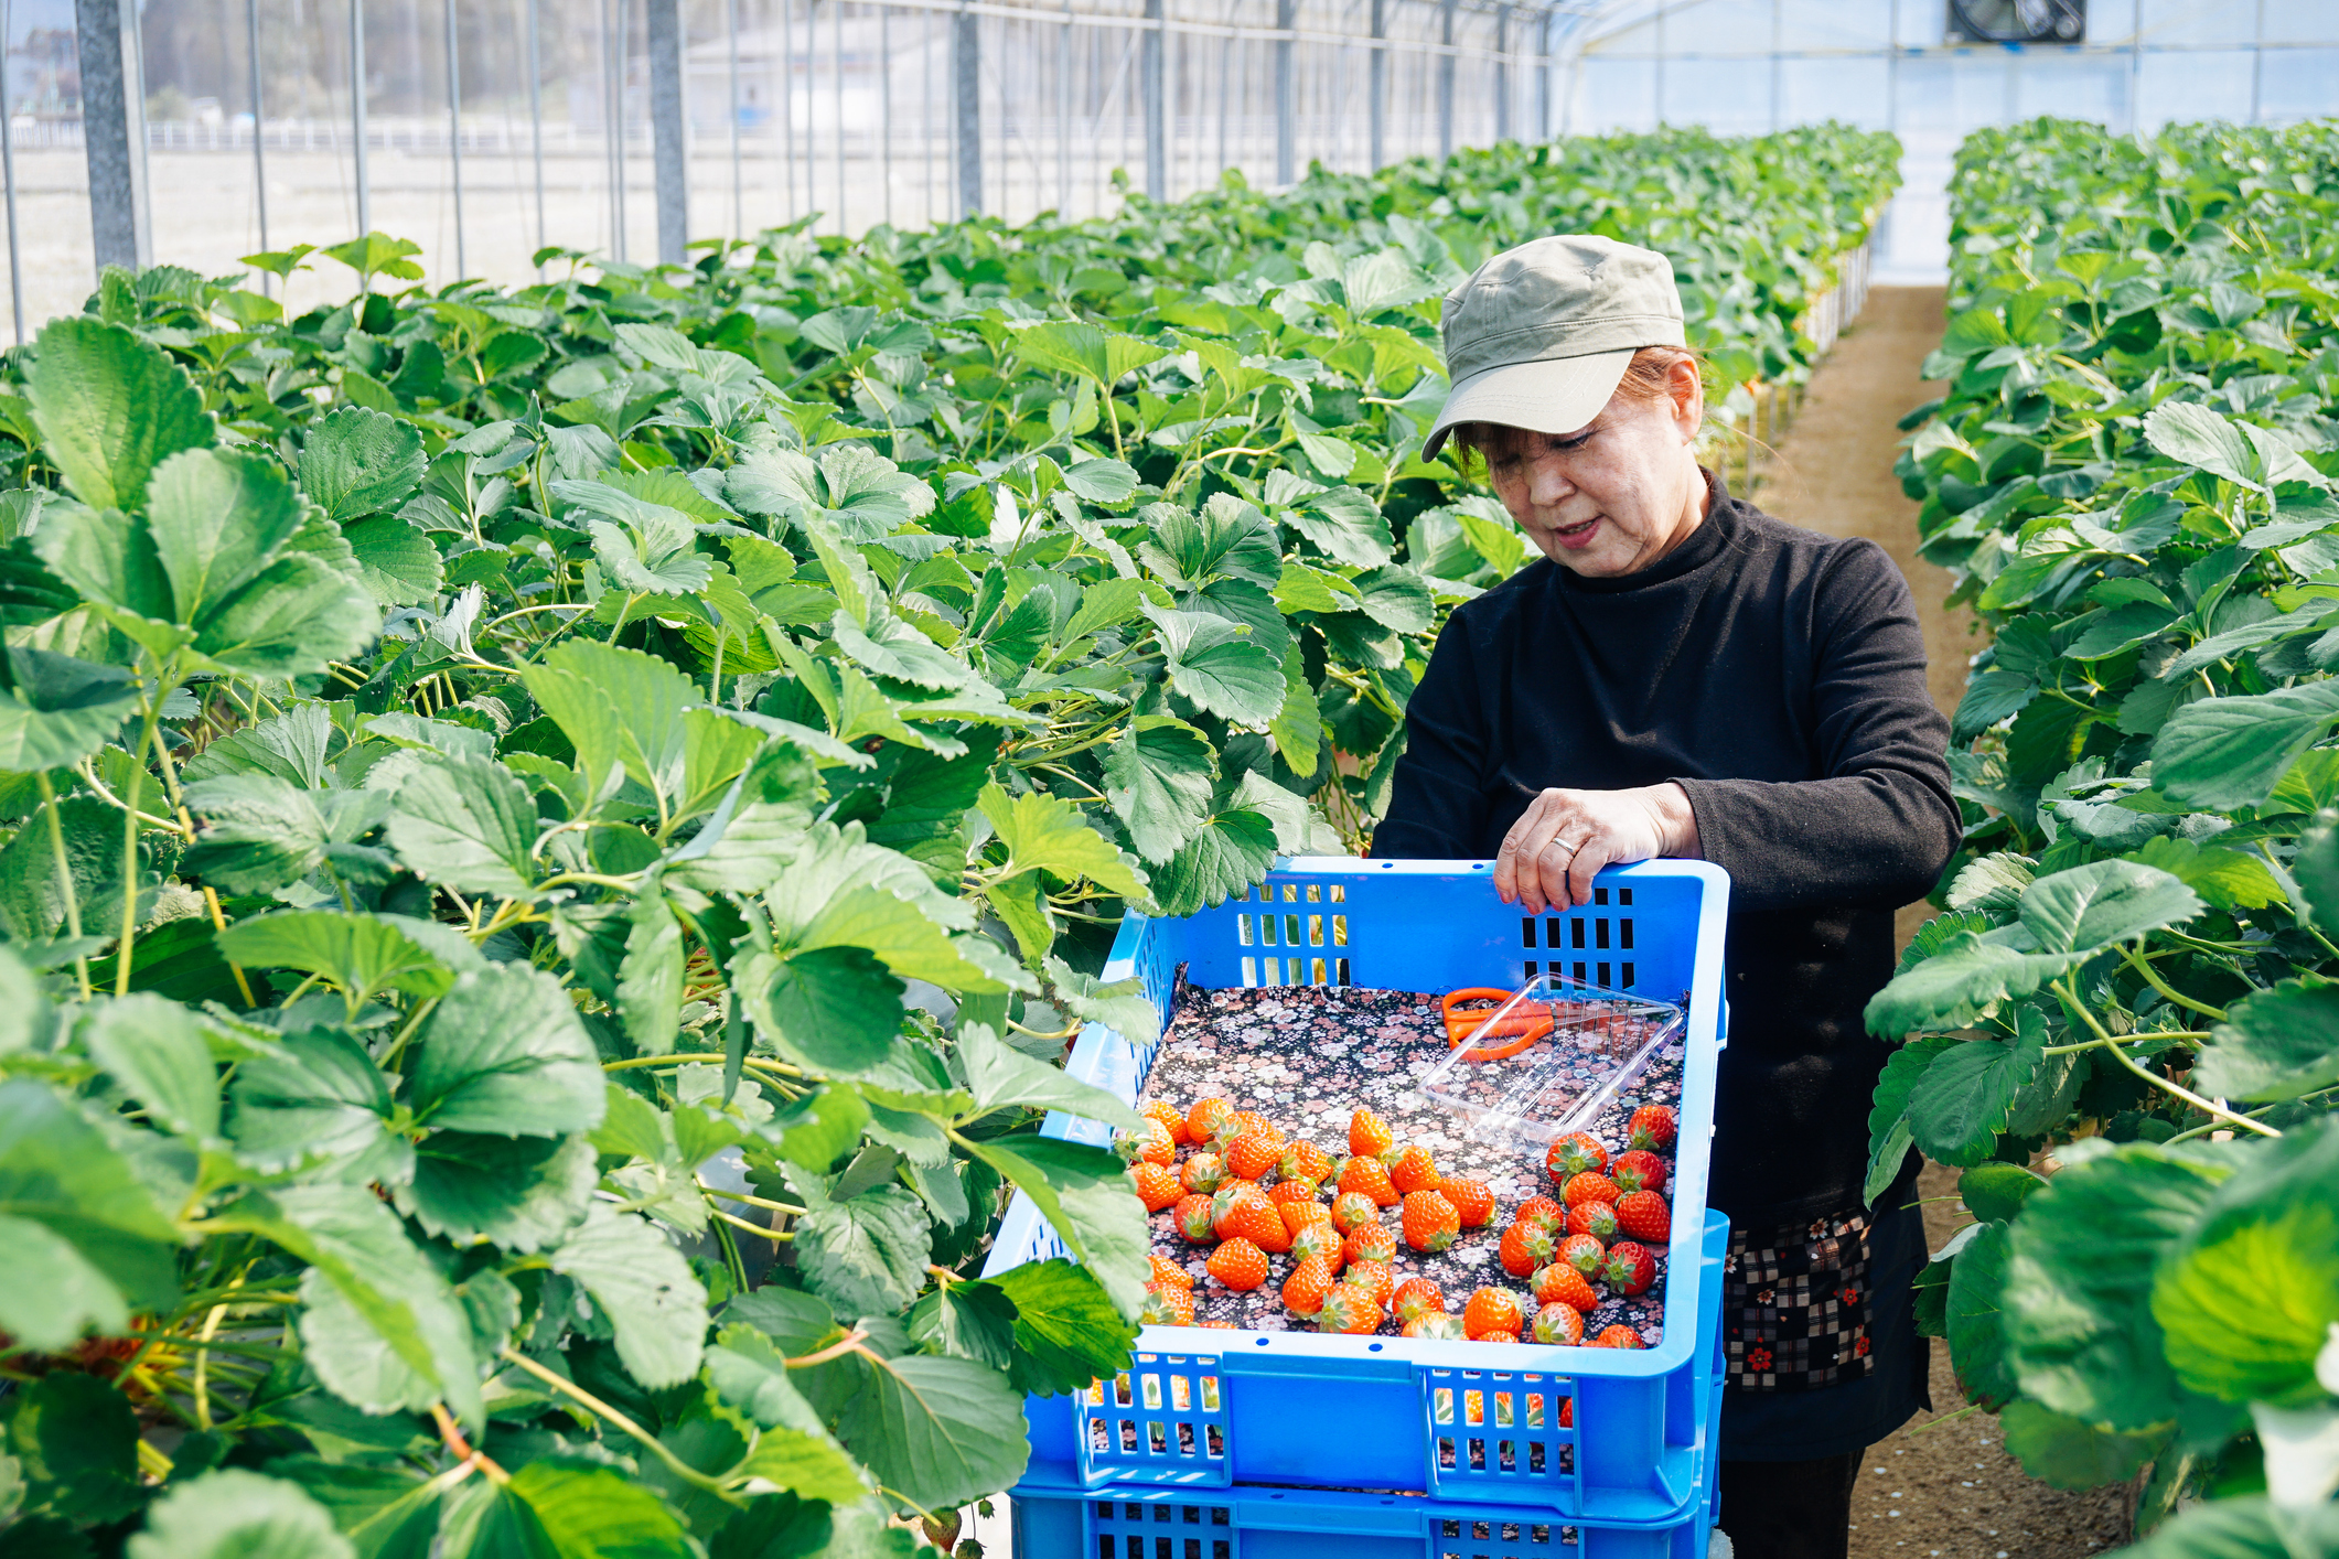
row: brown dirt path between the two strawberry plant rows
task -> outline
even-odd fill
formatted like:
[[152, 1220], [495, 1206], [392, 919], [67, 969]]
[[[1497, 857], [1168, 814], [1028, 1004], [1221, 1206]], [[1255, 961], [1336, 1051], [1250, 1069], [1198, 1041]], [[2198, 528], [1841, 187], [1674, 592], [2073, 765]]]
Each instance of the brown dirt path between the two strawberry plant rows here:
[[[1813, 376], [1778, 460], [1759, 472], [1754, 500], [1780, 519], [1829, 535], [1867, 535], [1892, 554], [1925, 624], [1932, 701], [1946, 713], [1965, 694], [1965, 664], [1981, 638], [1972, 617], [1941, 605], [1951, 577], [1916, 556], [1918, 505], [1892, 477], [1906, 437], [1895, 421], [1941, 393], [1916, 376], [1939, 339], [1939, 287], [1869, 292], [1860, 320]], [[1925, 905], [1904, 909], [1902, 940], [1930, 914]], [[1953, 1197], [1955, 1171], [1930, 1164], [1918, 1190]], [[1953, 1201], [1925, 1206], [1932, 1248], [1960, 1222]], [[1932, 1351], [1932, 1400], [1944, 1409], [1965, 1402], [1944, 1344]], [[2126, 1489], [2065, 1494], [2033, 1482], [2007, 1456], [1998, 1419], [1981, 1412], [1913, 1433], [1944, 1416], [1951, 1414], [1918, 1414], [1869, 1449], [1852, 1496], [1852, 1559], [2086, 1559], [2124, 1540]]]

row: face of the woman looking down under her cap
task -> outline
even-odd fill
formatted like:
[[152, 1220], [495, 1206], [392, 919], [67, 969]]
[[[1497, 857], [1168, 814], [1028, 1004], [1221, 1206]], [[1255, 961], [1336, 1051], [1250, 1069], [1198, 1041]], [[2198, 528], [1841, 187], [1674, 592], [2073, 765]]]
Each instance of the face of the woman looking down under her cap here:
[[1661, 400], [1616, 395], [1588, 428], [1497, 428], [1485, 449], [1495, 496], [1560, 568], [1607, 580], [1649, 568], [1705, 519], [1691, 439], [1705, 416], [1693, 365]]

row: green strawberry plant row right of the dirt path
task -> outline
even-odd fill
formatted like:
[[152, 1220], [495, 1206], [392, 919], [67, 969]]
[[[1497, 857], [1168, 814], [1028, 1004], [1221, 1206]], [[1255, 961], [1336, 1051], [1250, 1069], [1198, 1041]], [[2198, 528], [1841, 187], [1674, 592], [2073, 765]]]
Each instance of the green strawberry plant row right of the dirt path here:
[[2154, 1557], [2332, 1552], [2339, 126], [1983, 131], [1953, 199], [1899, 474], [1993, 643], [1869, 1190], [1965, 1171], [1920, 1316], [2033, 1475], [2145, 1473]]

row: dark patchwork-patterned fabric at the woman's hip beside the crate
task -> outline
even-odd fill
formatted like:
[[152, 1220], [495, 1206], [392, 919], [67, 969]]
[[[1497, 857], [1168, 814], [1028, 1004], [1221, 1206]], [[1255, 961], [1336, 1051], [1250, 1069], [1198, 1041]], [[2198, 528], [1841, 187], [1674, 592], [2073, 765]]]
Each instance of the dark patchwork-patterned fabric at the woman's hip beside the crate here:
[[1815, 1391], [1869, 1372], [1869, 1222], [1862, 1211], [1731, 1229], [1722, 1267], [1731, 1386]]

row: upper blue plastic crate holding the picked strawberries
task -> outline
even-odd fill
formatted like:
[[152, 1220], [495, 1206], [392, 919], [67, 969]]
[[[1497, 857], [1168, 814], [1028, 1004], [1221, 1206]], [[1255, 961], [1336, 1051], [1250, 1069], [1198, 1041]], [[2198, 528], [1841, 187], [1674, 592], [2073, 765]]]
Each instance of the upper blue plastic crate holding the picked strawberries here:
[[[1083, 1489], [1406, 1489], [1598, 1522], [1672, 1522], [1703, 1505], [1729, 1243], [1726, 1220], [1705, 1215], [1726, 905], [1729, 876], [1703, 862], [1612, 867], [1591, 905], [1523, 916], [1495, 898], [1488, 862], [1300, 858], [1219, 909], [1130, 916], [1104, 977], [1139, 979], [1165, 1014], [1179, 965], [1198, 986], [1448, 991], [1558, 968], [1668, 1000], [1686, 991], [1665, 1339], [1616, 1351], [1146, 1328], [1132, 1372], [1029, 1400], [1034, 1463]], [[1067, 1070], [1134, 1101], [1151, 1063], [1151, 1049], [1090, 1024]], [[1062, 1113], [1043, 1129], [1109, 1138]], [[985, 1274], [1050, 1255], [1064, 1243], [1017, 1194]], [[1574, 1428], [1558, 1426], [1560, 1398]], [[1343, 1430], [1336, 1451], [1326, 1423]]]

